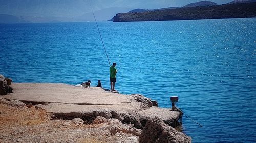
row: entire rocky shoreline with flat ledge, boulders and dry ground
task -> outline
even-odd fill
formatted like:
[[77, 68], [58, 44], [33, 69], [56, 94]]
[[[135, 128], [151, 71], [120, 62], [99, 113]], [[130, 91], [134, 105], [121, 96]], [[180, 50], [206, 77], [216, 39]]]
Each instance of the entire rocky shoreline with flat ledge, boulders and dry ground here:
[[[180, 125], [180, 112], [153, 106], [157, 105], [155, 101], [140, 94], [123, 95], [66, 84], [12, 83], [11, 87], [13, 93], [0, 96], [0, 126], [4, 129], [0, 131], [0, 142], [191, 142], [190, 137], [175, 129]], [[30, 113], [31, 109], [39, 112], [37, 118], [43, 118], [42, 123], [5, 127], [9, 123], [5, 118], [15, 118], [8, 111], [20, 114]], [[6, 133], [17, 128], [25, 135], [16, 132], [8, 137]], [[26, 134], [27, 128], [37, 136]]]

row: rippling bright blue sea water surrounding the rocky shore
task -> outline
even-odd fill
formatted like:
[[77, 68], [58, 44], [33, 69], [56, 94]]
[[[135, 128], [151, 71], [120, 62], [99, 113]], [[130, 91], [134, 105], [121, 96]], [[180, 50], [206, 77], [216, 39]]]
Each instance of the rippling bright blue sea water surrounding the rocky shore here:
[[[98, 22], [116, 89], [170, 108], [193, 142], [255, 142], [256, 18]], [[95, 22], [0, 24], [0, 73], [14, 82], [109, 85]]]

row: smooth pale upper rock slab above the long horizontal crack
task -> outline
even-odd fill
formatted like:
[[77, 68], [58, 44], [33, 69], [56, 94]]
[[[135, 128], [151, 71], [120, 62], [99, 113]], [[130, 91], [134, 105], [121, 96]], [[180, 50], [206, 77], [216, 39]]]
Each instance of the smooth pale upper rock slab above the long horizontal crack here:
[[[8, 99], [33, 102], [58, 102], [67, 104], [111, 104], [130, 102], [129, 96], [105, 91], [102, 88], [75, 87], [52, 83], [13, 83], [14, 92], [4, 96]], [[118, 100], [115, 100], [118, 97]]]

